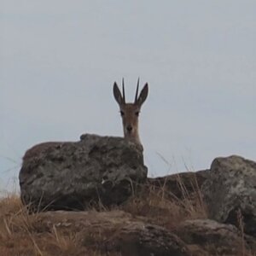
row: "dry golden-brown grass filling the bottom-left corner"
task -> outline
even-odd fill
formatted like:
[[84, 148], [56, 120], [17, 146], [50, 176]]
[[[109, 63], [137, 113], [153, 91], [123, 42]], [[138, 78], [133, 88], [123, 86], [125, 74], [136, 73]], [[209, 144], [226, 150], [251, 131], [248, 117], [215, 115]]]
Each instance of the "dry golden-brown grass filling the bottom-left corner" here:
[[73, 230], [63, 233], [41, 223], [39, 213], [29, 214], [18, 195], [0, 201], [0, 255], [102, 255], [78, 247]]

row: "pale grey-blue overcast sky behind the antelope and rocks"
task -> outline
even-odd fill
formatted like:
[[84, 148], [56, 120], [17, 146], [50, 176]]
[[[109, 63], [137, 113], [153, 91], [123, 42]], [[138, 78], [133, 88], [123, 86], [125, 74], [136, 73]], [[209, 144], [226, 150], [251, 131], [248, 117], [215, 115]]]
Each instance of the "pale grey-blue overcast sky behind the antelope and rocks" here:
[[[113, 82], [149, 84], [149, 176], [256, 160], [256, 1], [0, 0], [0, 190], [27, 148], [122, 136]], [[15, 184], [14, 184], [15, 180]]]

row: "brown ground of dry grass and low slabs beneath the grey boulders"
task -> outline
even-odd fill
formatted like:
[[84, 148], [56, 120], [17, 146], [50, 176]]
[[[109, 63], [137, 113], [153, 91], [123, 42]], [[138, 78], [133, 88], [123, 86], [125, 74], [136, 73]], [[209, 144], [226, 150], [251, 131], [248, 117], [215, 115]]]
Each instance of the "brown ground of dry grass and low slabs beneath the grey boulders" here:
[[195, 177], [152, 179], [120, 206], [83, 212], [30, 213], [19, 195], [9, 195], [0, 201], [1, 255], [256, 255], [242, 219], [241, 229], [207, 219]]

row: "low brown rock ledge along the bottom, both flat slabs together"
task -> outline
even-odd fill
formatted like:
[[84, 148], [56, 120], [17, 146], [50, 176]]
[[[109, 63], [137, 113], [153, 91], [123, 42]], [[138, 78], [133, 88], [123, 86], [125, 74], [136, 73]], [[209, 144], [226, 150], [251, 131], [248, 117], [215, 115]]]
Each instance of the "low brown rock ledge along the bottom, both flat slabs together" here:
[[[253, 255], [256, 241], [231, 224], [210, 219], [186, 220], [175, 230], [149, 224], [128, 212], [40, 212], [33, 228], [38, 232], [76, 234], [76, 246], [101, 255], [205, 256]], [[117, 253], [117, 254], [116, 254]]]

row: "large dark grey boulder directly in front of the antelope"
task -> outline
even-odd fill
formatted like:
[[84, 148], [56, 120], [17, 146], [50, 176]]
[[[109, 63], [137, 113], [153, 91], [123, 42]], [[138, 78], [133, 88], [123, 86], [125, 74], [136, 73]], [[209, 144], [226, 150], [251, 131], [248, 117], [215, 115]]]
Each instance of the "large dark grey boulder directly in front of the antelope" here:
[[20, 196], [33, 211], [110, 206], [125, 201], [146, 177], [137, 144], [86, 134], [79, 142], [29, 149], [19, 175]]

